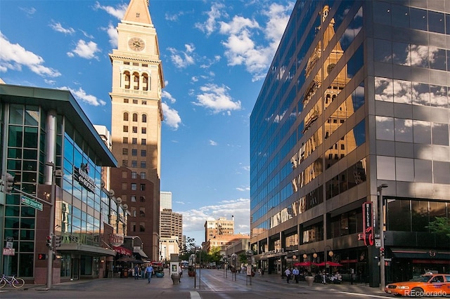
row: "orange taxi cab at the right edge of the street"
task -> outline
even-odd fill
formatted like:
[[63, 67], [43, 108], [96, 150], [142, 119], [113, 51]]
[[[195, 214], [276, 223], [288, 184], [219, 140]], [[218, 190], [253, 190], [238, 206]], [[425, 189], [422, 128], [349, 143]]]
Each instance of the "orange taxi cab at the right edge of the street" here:
[[450, 296], [450, 274], [423, 274], [411, 281], [388, 284], [385, 292], [411, 297]]

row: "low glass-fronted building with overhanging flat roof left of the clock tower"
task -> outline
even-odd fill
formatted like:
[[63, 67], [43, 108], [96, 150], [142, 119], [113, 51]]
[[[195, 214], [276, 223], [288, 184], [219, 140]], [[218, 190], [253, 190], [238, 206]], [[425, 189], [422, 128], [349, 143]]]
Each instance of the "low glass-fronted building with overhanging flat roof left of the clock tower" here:
[[1, 270], [45, 284], [53, 232], [53, 283], [103, 277], [116, 255], [110, 236], [123, 239], [127, 224], [101, 179], [113, 154], [69, 91], [0, 84], [0, 117], [1, 169], [15, 177], [12, 194], [0, 193], [0, 239], [13, 249]]

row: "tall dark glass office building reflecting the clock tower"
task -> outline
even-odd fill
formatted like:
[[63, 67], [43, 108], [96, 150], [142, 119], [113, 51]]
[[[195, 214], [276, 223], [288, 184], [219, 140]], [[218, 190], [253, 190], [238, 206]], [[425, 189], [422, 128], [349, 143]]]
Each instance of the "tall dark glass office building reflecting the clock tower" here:
[[386, 282], [450, 272], [449, 86], [450, 1], [297, 1], [250, 117], [258, 267], [378, 286], [384, 223]]

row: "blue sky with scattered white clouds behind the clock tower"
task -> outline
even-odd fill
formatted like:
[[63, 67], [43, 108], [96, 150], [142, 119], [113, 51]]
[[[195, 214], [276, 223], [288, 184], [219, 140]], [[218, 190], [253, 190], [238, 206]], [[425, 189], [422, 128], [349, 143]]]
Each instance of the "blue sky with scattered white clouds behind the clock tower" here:
[[[110, 129], [118, 22], [128, 0], [0, 2], [0, 78], [72, 91], [92, 124]], [[295, 1], [150, 0], [166, 87], [161, 190], [204, 241], [207, 218], [250, 232], [252, 107]]]

